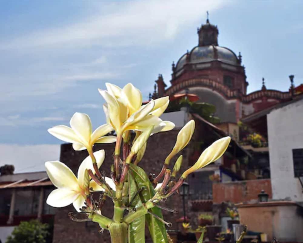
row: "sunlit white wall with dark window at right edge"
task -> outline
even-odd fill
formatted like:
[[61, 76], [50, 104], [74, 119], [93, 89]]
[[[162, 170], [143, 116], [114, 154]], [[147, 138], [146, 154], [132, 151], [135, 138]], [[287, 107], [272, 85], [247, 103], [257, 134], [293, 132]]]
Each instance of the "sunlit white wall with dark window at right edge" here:
[[303, 100], [271, 111], [267, 129], [273, 199], [303, 201], [292, 157], [292, 149], [303, 149]]

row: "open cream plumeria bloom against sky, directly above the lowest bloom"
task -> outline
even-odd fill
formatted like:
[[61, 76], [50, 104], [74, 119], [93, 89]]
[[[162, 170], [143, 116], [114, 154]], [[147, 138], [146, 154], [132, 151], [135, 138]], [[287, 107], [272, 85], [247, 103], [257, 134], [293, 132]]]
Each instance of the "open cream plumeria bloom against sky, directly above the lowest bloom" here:
[[87, 114], [76, 112], [71, 120], [71, 127], [58, 125], [48, 129], [48, 132], [58, 139], [73, 144], [75, 150], [92, 149], [95, 143], [116, 142], [115, 136], [105, 136], [113, 128], [104, 124], [92, 132], [92, 122]]

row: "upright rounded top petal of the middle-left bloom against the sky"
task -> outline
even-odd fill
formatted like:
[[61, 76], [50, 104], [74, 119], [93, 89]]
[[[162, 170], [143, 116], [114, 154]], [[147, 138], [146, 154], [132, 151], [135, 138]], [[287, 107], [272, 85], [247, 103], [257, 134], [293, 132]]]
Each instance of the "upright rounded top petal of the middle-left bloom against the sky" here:
[[69, 123], [75, 133], [82, 139], [82, 141], [88, 144], [88, 141], [92, 135], [92, 122], [89, 116], [84, 113], [76, 112], [72, 116]]

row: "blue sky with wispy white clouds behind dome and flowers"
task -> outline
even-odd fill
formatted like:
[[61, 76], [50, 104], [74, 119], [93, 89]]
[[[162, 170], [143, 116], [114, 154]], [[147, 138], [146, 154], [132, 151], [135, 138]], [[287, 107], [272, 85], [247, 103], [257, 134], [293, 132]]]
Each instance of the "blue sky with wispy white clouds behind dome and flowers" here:
[[207, 10], [219, 45], [241, 51], [248, 92], [262, 77], [282, 91], [289, 74], [303, 83], [302, 9], [302, 1], [0, 1], [0, 165], [22, 160], [23, 172], [57, 159], [61, 141], [46, 129], [68, 125], [75, 111], [103, 124], [105, 82], [132, 82], [146, 100], [159, 73], [169, 84]]

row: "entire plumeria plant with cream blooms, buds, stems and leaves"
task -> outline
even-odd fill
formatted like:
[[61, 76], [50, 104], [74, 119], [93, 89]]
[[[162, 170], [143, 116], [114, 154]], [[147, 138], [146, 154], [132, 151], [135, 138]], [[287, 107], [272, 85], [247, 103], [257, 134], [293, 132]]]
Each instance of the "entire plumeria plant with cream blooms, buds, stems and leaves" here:
[[[190, 173], [219, 159], [227, 149], [230, 137], [219, 139], [210, 145], [197, 162], [177, 179], [183, 156], [176, 159], [172, 170], [169, 166], [175, 155], [191, 140], [195, 121], [189, 121], [179, 131], [161, 172], [149, 178], [138, 165], [148, 149], [149, 137], [175, 127], [171, 121], [159, 118], [168, 107], [169, 97], [161, 97], [142, 105], [142, 94], [132, 84], [120, 88], [106, 83], [106, 87], [107, 90], [99, 89], [106, 101], [103, 105], [106, 124], [93, 131], [88, 115], [75, 113], [70, 120], [70, 127], [59, 125], [48, 129], [58, 139], [72, 143], [73, 149], [86, 149], [89, 156], [79, 165], [77, 176], [60, 161], [45, 163], [46, 172], [57, 187], [48, 196], [47, 203], [53, 207], [72, 204], [77, 211], [69, 214], [73, 221], [98, 223], [102, 229], [109, 231], [112, 243], [145, 242], [145, 225], [148, 226], [154, 243], [166, 243], [169, 238], [165, 225], [170, 226], [171, 223], [164, 221], [161, 209], [170, 209], [158, 203], [175, 193]], [[112, 131], [115, 131], [115, 136], [108, 135]], [[134, 136], [131, 136], [132, 133]], [[93, 152], [96, 143], [115, 143], [109, 177], [100, 171], [105, 151]], [[93, 199], [93, 193], [100, 193], [99, 201]], [[114, 205], [112, 217], [102, 214], [107, 199]]]

